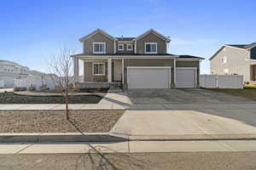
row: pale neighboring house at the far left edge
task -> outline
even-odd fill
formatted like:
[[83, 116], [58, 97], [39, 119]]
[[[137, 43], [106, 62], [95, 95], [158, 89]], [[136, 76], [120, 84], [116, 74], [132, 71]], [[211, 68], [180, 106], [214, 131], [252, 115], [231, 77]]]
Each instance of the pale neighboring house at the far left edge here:
[[15, 78], [27, 77], [29, 69], [13, 61], [0, 59], [0, 88], [14, 88]]

